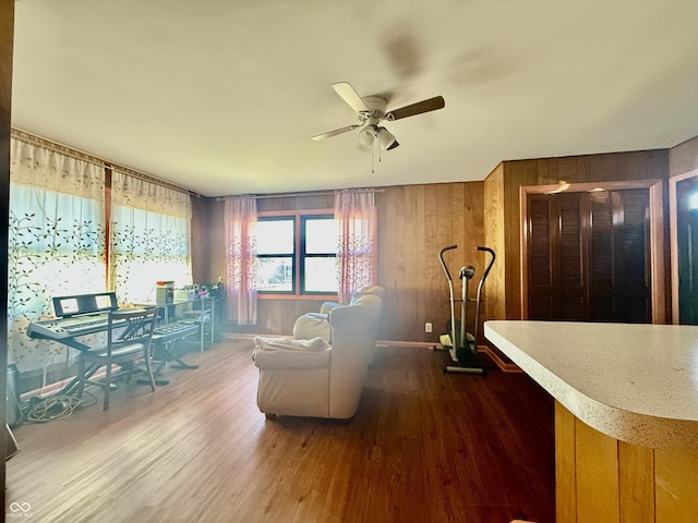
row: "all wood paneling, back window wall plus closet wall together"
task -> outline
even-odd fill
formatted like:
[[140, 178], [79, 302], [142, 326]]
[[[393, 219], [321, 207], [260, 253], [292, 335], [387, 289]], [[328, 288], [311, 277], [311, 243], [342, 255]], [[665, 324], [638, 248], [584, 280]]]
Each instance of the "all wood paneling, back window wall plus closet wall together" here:
[[[693, 150], [693, 149], [691, 149]], [[457, 244], [447, 263], [459, 293], [458, 272], [476, 266], [470, 293], [484, 270], [488, 245], [496, 263], [484, 287], [488, 319], [521, 317], [519, 187], [561, 182], [669, 179], [669, 150], [617, 153], [566, 158], [506, 161], [484, 182], [435, 183], [384, 187], [378, 207], [378, 281], [387, 300], [381, 339], [438, 342], [449, 319], [448, 287], [438, 263], [442, 247]], [[224, 202], [197, 198], [194, 204], [194, 280], [215, 281], [225, 273]], [[260, 198], [258, 210], [325, 209], [332, 193]], [[666, 234], [666, 238], [669, 235]], [[666, 270], [669, 273], [669, 270]], [[260, 333], [289, 335], [296, 318], [317, 311], [318, 300], [260, 300]], [[474, 312], [474, 307], [470, 307]], [[431, 323], [433, 332], [424, 332]], [[472, 318], [469, 318], [472, 325]], [[248, 329], [250, 330], [250, 329]], [[483, 340], [480, 340], [481, 342]]]

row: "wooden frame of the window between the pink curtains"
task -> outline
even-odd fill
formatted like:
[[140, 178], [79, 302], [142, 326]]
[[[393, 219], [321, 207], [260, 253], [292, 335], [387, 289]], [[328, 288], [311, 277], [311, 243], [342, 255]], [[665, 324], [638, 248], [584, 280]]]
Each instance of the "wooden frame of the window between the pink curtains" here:
[[[305, 239], [303, 238], [305, 231], [305, 220], [308, 219], [322, 219], [322, 218], [335, 218], [334, 209], [301, 209], [301, 210], [274, 210], [274, 211], [258, 211], [257, 219], [262, 220], [280, 220], [280, 219], [293, 219], [293, 291], [277, 292], [277, 291], [258, 291], [257, 297], [261, 300], [337, 300], [337, 292], [315, 292], [304, 290], [304, 259], [305, 259]], [[260, 256], [260, 255], [257, 255]], [[325, 256], [326, 255], [320, 255]], [[311, 257], [317, 257], [312, 255]]]

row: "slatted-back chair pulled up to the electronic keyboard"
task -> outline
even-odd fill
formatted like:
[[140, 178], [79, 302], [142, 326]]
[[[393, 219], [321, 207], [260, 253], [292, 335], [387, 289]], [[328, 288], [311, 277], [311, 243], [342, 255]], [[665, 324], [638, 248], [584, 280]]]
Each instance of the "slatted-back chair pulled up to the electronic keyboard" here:
[[[155, 391], [155, 378], [151, 367], [151, 340], [155, 328], [157, 308], [132, 308], [111, 311], [107, 328], [107, 345], [80, 353], [77, 370], [77, 394], [82, 397], [85, 384], [101, 387], [105, 391], [104, 410], [109, 409], [111, 380], [119, 375], [127, 376], [127, 382], [139, 364], [145, 365], [151, 389]], [[119, 365], [115, 374], [112, 366]], [[89, 379], [99, 367], [106, 367], [104, 379]]]

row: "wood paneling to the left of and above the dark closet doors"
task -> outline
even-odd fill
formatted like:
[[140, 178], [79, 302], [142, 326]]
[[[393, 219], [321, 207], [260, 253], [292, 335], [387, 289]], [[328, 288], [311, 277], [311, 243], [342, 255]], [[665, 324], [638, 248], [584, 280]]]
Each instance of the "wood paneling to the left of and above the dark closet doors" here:
[[[501, 163], [485, 180], [486, 223], [488, 227], [493, 223], [488, 241], [501, 245], [500, 251], [506, 255], [504, 267], [498, 268], [504, 270], [504, 281], [501, 285], [491, 287], [489, 294], [491, 303], [500, 306], [489, 311], [489, 317], [521, 318], [520, 186], [658, 179], [669, 179], [667, 149]], [[669, 273], [669, 268], [665, 273]], [[498, 316], [502, 309], [504, 316]]]

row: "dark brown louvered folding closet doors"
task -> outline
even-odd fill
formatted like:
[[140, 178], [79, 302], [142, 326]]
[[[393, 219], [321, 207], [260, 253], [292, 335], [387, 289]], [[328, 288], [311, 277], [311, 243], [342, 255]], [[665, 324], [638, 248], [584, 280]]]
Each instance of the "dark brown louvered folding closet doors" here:
[[650, 321], [648, 196], [529, 194], [530, 319]]

